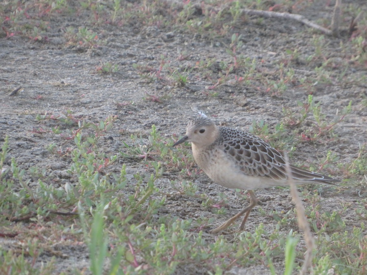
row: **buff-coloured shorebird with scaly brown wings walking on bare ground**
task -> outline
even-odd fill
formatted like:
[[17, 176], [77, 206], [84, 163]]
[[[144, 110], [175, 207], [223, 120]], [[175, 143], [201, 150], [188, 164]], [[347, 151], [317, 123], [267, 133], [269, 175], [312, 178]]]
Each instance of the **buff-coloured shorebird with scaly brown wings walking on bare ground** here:
[[[236, 232], [243, 231], [252, 208], [258, 203], [253, 190], [288, 185], [287, 162], [278, 150], [251, 133], [217, 126], [203, 113], [189, 121], [186, 134], [173, 147], [184, 142], [191, 142], [196, 164], [212, 181], [227, 188], [247, 190], [250, 195], [246, 208], [210, 230], [211, 233], [226, 229], [245, 214]], [[289, 167], [296, 184], [336, 185], [341, 181], [292, 164]]]

